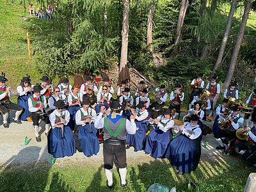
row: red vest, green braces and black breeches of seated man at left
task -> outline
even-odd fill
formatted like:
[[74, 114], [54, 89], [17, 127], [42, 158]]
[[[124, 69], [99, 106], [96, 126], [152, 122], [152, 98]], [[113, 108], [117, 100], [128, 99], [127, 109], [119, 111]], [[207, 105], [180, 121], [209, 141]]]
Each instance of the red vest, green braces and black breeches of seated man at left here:
[[[32, 104], [33, 104], [33, 108], [38, 108], [40, 107], [40, 101], [42, 103], [44, 103], [44, 96], [40, 96], [39, 98], [34, 98], [33, 95], [31, 97], [29, 97], [29, 99], [31, 99]], [[44, 111], [44, 110], [43, 110]], [[51, 124], [50, 120], [49, 120], [49, 116], [48, 115], [40, 115], [40, 113], [42, 113], [42, 111], [36, 111], [36, 112], [31, 112], [31, 119], [33, 120], [33, 125], [39, 125], [39, 120], [42, 119], [45, 124]]]

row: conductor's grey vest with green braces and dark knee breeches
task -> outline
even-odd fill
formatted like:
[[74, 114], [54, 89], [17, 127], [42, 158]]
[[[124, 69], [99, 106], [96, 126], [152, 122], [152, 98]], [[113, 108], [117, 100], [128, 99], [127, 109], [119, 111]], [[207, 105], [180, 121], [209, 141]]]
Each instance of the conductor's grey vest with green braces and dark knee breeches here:
[[115, 124], [109, 118], [104, 118], [104, 168], [112, 169], [114, 161], [116, 168], [126, 168], [126, 134], [125, 118], [120, 117]]

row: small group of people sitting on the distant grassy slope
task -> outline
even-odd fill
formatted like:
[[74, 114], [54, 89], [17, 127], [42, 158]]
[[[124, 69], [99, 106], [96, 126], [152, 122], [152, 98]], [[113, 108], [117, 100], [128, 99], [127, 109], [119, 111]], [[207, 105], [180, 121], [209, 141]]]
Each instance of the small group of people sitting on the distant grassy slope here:
[[29, 14], [31, 16], [35, 15], [37, 19], [52, 19], [53, 6], [51, 4], [49, 4], [45, 10], [42, 6], [35, 9], [33, 4], [29, 4], [28, 10]]

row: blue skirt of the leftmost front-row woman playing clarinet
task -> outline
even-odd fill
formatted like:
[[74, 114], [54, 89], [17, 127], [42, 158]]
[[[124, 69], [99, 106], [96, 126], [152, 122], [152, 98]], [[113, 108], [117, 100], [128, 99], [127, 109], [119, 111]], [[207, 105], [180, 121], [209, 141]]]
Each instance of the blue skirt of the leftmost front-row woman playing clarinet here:
[[54, 158], [73, 156], [76, 153], [74, 135], [68, 125], [64, 125], [64, 138], [61, 138], [61, 129], [55, 127], [49, 140], [49, 150]]

